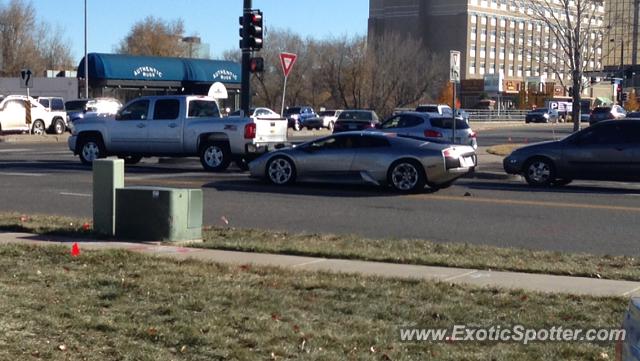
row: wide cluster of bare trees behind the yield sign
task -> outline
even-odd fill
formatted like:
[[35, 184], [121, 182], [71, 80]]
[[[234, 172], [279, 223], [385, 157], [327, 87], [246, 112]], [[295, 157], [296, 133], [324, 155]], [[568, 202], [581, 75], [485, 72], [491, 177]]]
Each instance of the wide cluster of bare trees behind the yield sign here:
[[[370, 108], [386, 115], [434, 99], [446, 74], [444, 60], [420, 50], [417, 41], [392, 34], [367, 44], [363, 36], [316, 41], [271, 29], [266, 42], [269, 46], [256, 54], [264, 58], [265, 71], [252, 75], [253, 102], [278, 111], [284, 82], [281, 52], [298, 55], [287, 80], [288, 105]], [[227, 51], [224, 58], [239, 61], [240, 52]]]

